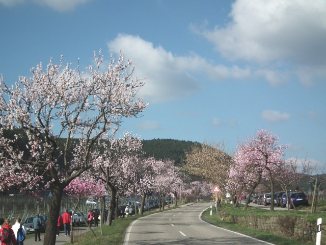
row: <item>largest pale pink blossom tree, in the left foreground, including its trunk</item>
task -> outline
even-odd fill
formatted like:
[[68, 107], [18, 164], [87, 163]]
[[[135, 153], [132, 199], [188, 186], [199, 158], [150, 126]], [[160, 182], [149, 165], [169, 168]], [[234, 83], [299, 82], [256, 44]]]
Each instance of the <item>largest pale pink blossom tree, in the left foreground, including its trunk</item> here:
[[[30, 183], [28, 188], [38, 186], [39, 178], [49, 180], [45, 187], [53, 193], [44, 244], [56, 241], [57, 215], [60, 211], [64, 188], [97, 158], [96, 143], [112, 139], [125, 117], [138, 117], [147, 104], [138, 95], [144, 85], [143, 79], [135, 78], [131, 61], [124, 61], [120, 52], [116, 62], [111, 62], [100, 72], [103, 61], [101, 52], [94, 52], [96, 67], [89, 66], [85, 72], [67, 64], [62, 58], [58, 65], [50, 63], [43, 71], [42, 63], [32, 68], [32, 78], [19, 77], [13, 86], [0, 80], [0, 182], [15, 180], [15, 184]], [[15, 139], [6, 139], [4, 132], [19, 128], [28, 136], [26, 145], [32, 157], [25, 159], [21, 150], [15, 148]], [[58, 154], [58, 140], [65, 144]], [[73, 152], [74, 159], [68, 158]], [[59, 157], [56, 157], [58, 156]], [[62, 164], [59, 164], [62, 162]], [[10, 185], [2, 184], [8, 188]], [[20, 185], [23, 188], [23, 185]]]

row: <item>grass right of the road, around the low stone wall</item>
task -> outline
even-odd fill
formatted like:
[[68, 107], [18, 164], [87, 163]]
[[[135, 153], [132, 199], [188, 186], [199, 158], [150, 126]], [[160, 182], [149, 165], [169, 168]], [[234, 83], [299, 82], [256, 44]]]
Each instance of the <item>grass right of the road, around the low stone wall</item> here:
[[[309, 207], [306, 207], [309, 208]], [[214, 208], [213, 208], [214, 209]], [[311, 207], [310, 207], [311, 209]], [[209, 210], [209, 209], [208, 209]], [[300, 209], [299, 209], [300, 210]], [[308, 210], [307, 210], [308, 211]], [[245, 226], [237, 225], [226, 220], [221, 220], [223, 215], [234, 215], [234, 216], [242, 216], [242, 217], [252, 217], [255, 215], [260, 218], [269, 218], [269, 217], [296, 217], [296, 218], [304, 218], [308, 222], [315, 223], [317, 219], [322, 217], [326, 218], [326, 214], [322, 212], [302, 212], [302, 211], [293, 211], [293, 210], [275, 210], [273, 212], [265, 209], [258, 209], [255, 207], [248, 206], [248, 210], [243, 210], [240, 208], [234, 208], [231, 204], [225, 204], [222, 206], [221, 210], [218, 210], [220, 215], [216, 215], [216, 209], [212, 212], [212, 216], [210, 216], [210, 211], [205, 211], [202, 215], [203, 220], [206, 222], [225, 228], [231, 231], [239, 232], [244, 235], [248, 235], [263, 241], [267, 241], [270, 243], [274, 243], [277, 245], [303, 245], [303, 244], [315, 244], [314, 242], [304, 241], [302, 239], [292, 239], [286, 236], [282, 236], [278, 233], [273, 233], [265, 230], [258, 230], [253, 228], [248, 228]], [[224, 213], [224, 214], [223, 214]], [[221, 216], [222, 215], [222, 216]]]

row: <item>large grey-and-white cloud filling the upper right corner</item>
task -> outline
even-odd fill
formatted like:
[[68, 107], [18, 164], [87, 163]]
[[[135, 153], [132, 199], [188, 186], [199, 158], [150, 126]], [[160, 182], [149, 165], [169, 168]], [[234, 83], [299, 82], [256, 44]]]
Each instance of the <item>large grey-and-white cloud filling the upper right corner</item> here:
[[[324, 0], [237, 0], [225, 27], [191, 29], [212, 42], [229, 60], [244, 60], [270, 70], [288, 67], [305, 85], [324, 78], [326, 65], [326, 2]], [[268, 67], [268, 68], [267, 68]], [[273, 68], [270, 68], [273, 67]], [[278, 70], [278, 73], [281, 72]], [[267, 76], [271, 84], [282, 79]]]

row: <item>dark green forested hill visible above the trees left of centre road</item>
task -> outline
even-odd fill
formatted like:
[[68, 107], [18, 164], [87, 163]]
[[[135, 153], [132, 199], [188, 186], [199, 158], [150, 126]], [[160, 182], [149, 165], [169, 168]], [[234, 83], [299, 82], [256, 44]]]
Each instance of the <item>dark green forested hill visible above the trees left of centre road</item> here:
[[176, 140], [176, 139], [150, 139], [143, 140], [143, 151], [146, 157], [155, 159], [169, 158], [180, 165], [185, 159], [184, 152], [191, 149], [191, 146], [198, 142]]

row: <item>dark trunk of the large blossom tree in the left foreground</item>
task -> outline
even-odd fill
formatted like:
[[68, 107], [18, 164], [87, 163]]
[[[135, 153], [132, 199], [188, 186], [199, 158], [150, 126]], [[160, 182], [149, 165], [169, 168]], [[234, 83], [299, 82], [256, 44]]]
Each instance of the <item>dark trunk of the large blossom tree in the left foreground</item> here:
[[63, 188], [61, 186], [55, 186], [53, 187], [52, 192], [53, 197], [50, 204], [50, 212], [46, 222], [43, 242], [44, 245], [55, 245], [57, 238], [58, 215], [60, 213]]

